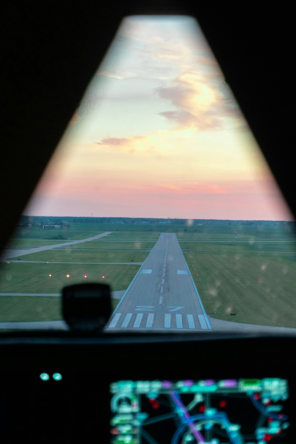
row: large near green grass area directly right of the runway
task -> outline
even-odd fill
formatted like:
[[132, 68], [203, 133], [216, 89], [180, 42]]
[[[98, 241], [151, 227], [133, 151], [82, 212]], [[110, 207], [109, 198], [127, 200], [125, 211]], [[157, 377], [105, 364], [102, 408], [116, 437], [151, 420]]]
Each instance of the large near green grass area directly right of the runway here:
[[296, 327], [294, 258], [266, 252], [185, 252], [184, 256], [210, 316], [246, 324]]

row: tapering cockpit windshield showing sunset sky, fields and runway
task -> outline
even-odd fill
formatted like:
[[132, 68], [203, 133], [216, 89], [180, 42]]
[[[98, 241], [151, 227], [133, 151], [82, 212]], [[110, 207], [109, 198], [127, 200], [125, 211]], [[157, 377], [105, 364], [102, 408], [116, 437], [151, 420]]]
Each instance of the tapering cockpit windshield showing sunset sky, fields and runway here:
[[295, 242], [196, 20], [127, 17], [2, 254], [0, 328], [67, 328], [89, 281], [108, 331], [295, 332]]

